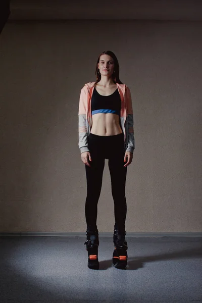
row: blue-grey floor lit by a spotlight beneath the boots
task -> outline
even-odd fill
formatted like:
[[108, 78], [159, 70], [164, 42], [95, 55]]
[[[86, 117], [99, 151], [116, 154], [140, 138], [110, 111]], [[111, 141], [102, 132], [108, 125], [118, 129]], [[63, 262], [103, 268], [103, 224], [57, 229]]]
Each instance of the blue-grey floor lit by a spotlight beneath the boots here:
[[99, 238], [100, 270], [87, 268], [84, 237], [1, 237], [1, 303], [202, 302], [201, 237], [127, 237], [128, 268], [112, 266]]

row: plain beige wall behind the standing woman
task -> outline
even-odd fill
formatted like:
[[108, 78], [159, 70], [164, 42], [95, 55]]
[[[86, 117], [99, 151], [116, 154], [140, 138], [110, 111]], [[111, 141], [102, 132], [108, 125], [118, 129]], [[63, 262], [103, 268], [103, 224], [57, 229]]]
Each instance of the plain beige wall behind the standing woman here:
[[[85, 231], [78, 104], [110, 49], [132, 94], [128, 232], [201, 232], [201, 22], [7, 23], [1, 34], [1, 232]], [[112, 232], [106, 160], [97, 226]]]

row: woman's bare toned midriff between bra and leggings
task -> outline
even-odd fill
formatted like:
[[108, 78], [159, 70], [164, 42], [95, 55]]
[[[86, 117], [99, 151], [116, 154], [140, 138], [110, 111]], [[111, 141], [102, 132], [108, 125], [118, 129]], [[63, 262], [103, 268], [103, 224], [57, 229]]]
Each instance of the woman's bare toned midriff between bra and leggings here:
[[111, 113], [92, 115], [92, 128], [90, 132], [98, 136], [112, 136], [122, 133], [119, 116]]

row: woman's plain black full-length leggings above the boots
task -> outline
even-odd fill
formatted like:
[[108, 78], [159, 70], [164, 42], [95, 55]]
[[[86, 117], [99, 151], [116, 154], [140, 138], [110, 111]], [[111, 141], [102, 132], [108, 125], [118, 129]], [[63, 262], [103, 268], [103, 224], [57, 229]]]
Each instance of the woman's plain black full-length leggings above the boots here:
[[90, 133], [88, 147], [92, 161], [89, 161], [90, 167], [85, 165], [87, 179], [85, 217], [87, 227], [90, 229], [97, 228], [97, 203], [102, 188], [105, 159], [109, 159], [115, 227], [124, 229], [127, 212], [125, 197], [127, 167], [123, 167], [126, 163], [124, 162], [124, 134], [98, 136]]

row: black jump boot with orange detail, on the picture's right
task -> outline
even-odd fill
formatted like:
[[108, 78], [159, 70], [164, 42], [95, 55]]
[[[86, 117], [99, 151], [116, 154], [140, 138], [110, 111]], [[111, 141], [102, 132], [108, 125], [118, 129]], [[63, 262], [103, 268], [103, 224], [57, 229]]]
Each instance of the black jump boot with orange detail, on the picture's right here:
[[116, 228], [114, 229], [113, 240], [115, 249], [113, 252], [112, 263], [114, 267], [119, 269], [126, 269], [127, 266], [128, 254], [126, 250], [128, 249], [128, 244], [125, 240], [125, 235], [125, 230], [119, 231]]

